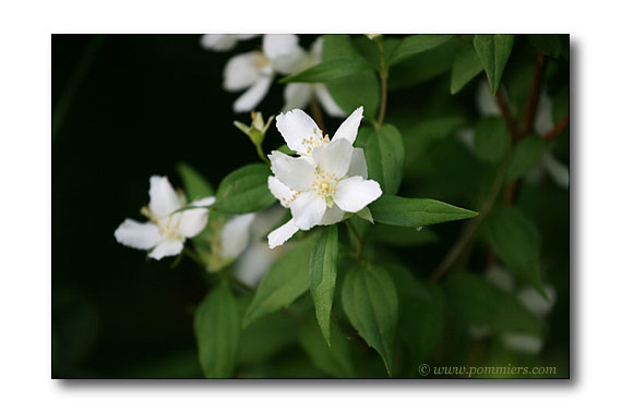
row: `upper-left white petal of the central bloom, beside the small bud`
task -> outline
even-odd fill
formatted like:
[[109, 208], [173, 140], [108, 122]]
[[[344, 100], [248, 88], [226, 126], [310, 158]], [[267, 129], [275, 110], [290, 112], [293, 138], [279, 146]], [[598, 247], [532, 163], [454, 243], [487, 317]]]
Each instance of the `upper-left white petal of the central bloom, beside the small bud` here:
[[276, 117], [276, 129], [285, 138], [289, 149], [300, 154], [311, 153], [302, 139], [322, 139], [322, 131], [304, 111], [295, 109]]

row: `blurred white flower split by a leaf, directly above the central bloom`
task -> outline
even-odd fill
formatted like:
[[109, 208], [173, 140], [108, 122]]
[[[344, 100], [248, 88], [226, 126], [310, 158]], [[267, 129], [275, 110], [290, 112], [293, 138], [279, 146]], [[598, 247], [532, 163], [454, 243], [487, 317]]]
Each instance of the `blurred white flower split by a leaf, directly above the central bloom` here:
[[[311, 46], [308, 53], [307, 62], [300, 69], [307, 69], [316, 65], [322, 61], [322, 45], [323, 39], [320, 37]], [[294, 108], [306, 108], [311, 99], [316, 98], [322, 108], [331, 117], [345, 117], [346, 114], [333, 100], [333, 97], [326, 89], [324, 84], [309, 84], [309, 83], [292, 83], [287, 84], [284, 90], [285, 107], [284, 111], [289, 111]]]

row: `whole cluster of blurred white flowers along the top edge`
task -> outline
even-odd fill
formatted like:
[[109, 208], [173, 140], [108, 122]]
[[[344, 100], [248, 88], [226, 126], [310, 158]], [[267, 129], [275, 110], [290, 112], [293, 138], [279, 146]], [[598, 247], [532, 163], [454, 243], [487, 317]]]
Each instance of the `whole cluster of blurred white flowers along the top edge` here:
[[[204, 35], [201, 45], [215, 51], [232, 49], [239, 40], [256, 35]], [[264, 35], [262, 49], [232, 57], [225, 65], [224, 87], [228, 92], [244, 93], [234, 102], [236, 112], [254, 110], [267, 95], [275, 76], [289, 75], [320, 63], [322, 60], [322, 38], [318, 38], [306, 51], [298, 44], [296, 35]], [[284, 111], [304, 108], [312, 99], [318, 99], [322, 108], [332, 117], [345, 113], [335, 104], [323, 84], [290, 83], [285, 86]]]

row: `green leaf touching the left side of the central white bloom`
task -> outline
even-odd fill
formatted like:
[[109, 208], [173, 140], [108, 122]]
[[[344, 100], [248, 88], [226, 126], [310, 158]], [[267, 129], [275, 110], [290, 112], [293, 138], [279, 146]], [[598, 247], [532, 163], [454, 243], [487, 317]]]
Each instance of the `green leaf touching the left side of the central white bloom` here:
[[262, 163], [251, 163], [225, 176], [216, 193], [218, 211], [242, 215], [267, 208], [276, 202], [267, 188], [270, 168]]

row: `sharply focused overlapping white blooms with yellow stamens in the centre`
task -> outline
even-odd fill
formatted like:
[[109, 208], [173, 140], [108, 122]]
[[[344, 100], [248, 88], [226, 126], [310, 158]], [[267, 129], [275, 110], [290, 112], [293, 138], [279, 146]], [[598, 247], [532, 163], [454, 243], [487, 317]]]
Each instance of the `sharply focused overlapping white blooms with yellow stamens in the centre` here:
[[268, 156], [272, 172], [267, 184], [292, 219], [268, 234], [268, 246], [285, 243], [298, 230], [340, 221], [344, 211], [358, 212], [382, 195], [380, 184], [367, 180], [363, 150], [354, 148], [362, 107], [339, 126], [332, 141], [315, 122], [295, 109], [276, 117], [276, 127], [287, 146], [300, 157], [280, 151]]

